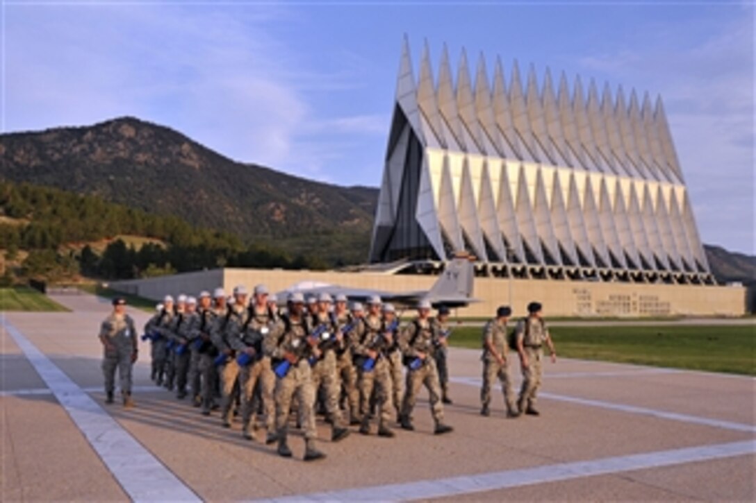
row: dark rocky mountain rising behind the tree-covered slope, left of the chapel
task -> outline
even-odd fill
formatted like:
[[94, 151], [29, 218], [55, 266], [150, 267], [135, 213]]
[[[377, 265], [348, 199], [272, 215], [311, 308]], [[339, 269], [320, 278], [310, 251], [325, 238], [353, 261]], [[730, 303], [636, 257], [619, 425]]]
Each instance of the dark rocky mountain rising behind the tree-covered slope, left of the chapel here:
[[378, 191], [234, 162], [178, 131], [132, 117], [3, 134], [0, 177], [175, 214], [336, 262], [367, 258]]

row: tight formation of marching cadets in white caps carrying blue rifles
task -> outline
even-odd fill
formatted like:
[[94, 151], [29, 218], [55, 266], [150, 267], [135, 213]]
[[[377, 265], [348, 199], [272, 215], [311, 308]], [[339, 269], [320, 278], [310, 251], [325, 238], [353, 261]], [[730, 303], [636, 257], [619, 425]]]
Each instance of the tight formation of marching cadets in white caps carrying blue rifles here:
[[[344, 295], [305, 300], [295, 292], [279, 310], [265, 285], [249, 298], [244, 286], [226, 297], [223, 289], [197, 298], [167, 295], [144, 326], [152, 344], [152, 378], [178, 399], [190, 393], [203, 415], [219, 410], [223, 427], [239, 414], [242, 434], [290, 457], [290, 417], [302, 428], [305, 461], [323, 458], [315, 445], [315, 412], [331, 426], [331, 440], [348, 437], [349, 426], [394, 437], [390, 424], [414, 430], [412, 412], [420, 387], [429, 391], [434, 433], [452, 430], [443, 403], [451, 403], [446, 381], [448, 309], [431, 316], [420, 301], [417, 317], [403, 326], [392, 304], [377, 296], [366, 306], [348, 306]], [[439, 370], [443, 381], [439, 380]], [[236, 411], [234, 411], [236, 406]], [[262, 424], [258, 420], [262, 419]]]

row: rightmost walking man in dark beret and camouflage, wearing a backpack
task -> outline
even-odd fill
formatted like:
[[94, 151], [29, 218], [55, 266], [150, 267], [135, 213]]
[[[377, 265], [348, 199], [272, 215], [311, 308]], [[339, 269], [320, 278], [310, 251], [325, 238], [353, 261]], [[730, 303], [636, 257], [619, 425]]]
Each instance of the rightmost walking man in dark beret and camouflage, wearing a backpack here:
[[546, 322], [541, 315], [541, 303], [531, 302], [528, 304], [528, 317], [517, 322], [516, 343], [517, 353], [522, 367], [522, 388], [519, 395], [519, 412], [528, 415], [539, 415], [535, 409], [538, 398], [538, 388], [541, 387], [541, 366], [544, 360], [542, 346], [546, 344], [551, 353], [551, 362], [556, 363], [556, 350], [551, 341]]

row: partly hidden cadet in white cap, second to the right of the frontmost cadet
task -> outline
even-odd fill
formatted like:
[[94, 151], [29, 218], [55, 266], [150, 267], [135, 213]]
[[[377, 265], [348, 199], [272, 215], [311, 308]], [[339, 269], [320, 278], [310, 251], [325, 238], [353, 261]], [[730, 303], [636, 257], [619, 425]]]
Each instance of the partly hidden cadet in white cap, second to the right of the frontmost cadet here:
[[352, 363], [352, 337], [354, 327], [358, 319], [362, 317], [360, 310], [349, 313], [346, 309], [346, 296], [336, 295], [336, 307], [333, 310], [333, 319], [336, 321], [336, 329], [342, 334], [342, 340], [336, 346], [336, 372], [341, 381], [342, 397], [345, 397], [349, 406], [349, 424], [360, 424], [360, 392], [357, 388], [357, 369]]

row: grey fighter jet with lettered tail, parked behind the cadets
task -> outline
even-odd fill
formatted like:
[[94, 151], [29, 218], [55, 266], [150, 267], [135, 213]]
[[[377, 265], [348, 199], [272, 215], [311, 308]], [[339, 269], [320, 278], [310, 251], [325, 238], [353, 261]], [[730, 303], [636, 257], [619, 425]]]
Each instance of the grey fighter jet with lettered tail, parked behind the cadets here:
[[474, 276], [472, 261], [465, 256], [459, 256], [448, 262], [444, 272], [429, 290], [386, 292], [327, 283], [299, 282], [282, 292], [277, 292], [276, 296], [279, 300], [285, 301], [293, 292], [301, 292], [305, 297], [328, 293], [332, 297], [342, 294], [350, 301], [364, 302], [373, 295], [379, 295], [384, 302], [392, 302], [401, 307], [415, 307], [423, 299], [429, 300], [433, 307], [466, 307], [473, 302], [480, 302], [479, 299], [472, 298]]

